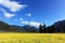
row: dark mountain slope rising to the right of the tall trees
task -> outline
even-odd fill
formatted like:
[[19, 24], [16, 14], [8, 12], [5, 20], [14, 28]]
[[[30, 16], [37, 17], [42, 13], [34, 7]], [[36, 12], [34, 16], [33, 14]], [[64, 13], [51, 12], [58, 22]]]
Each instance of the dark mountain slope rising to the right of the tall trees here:
[[60, 20], [44, 29], [47, 33], [65, 33], [65, 20]]

